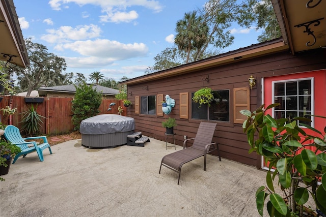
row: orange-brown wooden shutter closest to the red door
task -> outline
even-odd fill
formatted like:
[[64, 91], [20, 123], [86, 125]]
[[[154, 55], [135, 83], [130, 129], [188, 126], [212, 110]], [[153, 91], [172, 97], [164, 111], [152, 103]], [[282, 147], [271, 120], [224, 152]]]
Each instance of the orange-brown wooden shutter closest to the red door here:
[[249, 87], [233, 88], [233, 122], [243, 123], [247, 116], [240, 114], [243, 109], [250, 110]]

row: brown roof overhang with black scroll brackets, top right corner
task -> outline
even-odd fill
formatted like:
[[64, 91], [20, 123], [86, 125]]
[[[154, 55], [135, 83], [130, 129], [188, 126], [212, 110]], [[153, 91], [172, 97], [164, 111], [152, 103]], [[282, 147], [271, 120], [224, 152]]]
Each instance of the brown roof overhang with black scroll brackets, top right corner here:
[[271, 0], [292, 54], [326, 47], [326, 1]]

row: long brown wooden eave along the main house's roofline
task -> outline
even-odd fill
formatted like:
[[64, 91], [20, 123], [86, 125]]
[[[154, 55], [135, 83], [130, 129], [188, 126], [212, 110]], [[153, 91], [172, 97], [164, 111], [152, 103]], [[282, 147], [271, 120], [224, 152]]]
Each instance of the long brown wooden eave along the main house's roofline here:
[[282, 39], [271, 40], [260, 44], [251, 45], [249, 47], [240, 48], [235, 51], [230, 51], [217, 56], [209, 57], [206, 59], [198, 60], [193, 63], [181, 65], [171, 69], [155, 72], [149, 75], [129, 79], [120, 82], [121, 84], [137, 84], [146, 81], [157, 80], [161, 78], [191, 73], [198, 70], [203, 70], [211, 67], [221, 66], [230, 63], [236, 63], [244, 59], [255, 58], [271, 53], [288, 50], [289, 47], [284, 44]]

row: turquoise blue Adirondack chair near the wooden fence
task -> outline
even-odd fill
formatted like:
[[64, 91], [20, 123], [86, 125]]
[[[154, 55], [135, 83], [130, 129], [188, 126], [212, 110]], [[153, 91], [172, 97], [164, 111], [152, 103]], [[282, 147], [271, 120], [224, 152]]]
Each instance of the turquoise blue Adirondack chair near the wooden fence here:
[[[49, 143], [47, 142], [46, 136], [22, 138], [18, 128], [16, 128], [13, 125], [8, 125], [5, 129], [5, 137], [8, 141], [17, 145], [21, 149], [21, 152], [16, 154], [13, 164], [17, 161], [17, 159], [20, 156], [23, 156], [23, 158], [24, 158], [26, 156], [26, 154], [31, 153], [33, 151], [37, 152], [40, 161], [44, 161], [43, 150], [45, 148], [48, 148], [50, 151], [50, 154], [52, 154], [52, 151], [51, 151]], [[43, 139], [43, 143], [38, 145], [35, 141], [30, 141], [30, 142], [25, 141], [25, 140], [33, 140], [33, 139]]]

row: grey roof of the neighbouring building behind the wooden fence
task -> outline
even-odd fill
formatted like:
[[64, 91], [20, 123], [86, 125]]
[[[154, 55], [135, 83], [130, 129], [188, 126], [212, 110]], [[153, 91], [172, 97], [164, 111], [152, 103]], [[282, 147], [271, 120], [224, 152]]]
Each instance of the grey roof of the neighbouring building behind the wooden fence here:
[[[115, 96], [119, 94], [119, 90], [113, 89], [110, 87], [104, 87], [96, 84], [88, 84], [92, 85], [93, 89], [96, 89], [98, 92], [101, 92], [103, 95], [111, 95]], [[61, 86], [51, 86], [51, 87], [39, 87], [38, 88], [40, 96], [45, 96], [49, 92], [57, 92], [57, 93], [70, 93], [74, 94], [76, 92], [76, 88], [73, 84], [69, 85], [61, 85]]]

